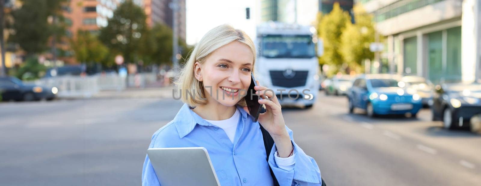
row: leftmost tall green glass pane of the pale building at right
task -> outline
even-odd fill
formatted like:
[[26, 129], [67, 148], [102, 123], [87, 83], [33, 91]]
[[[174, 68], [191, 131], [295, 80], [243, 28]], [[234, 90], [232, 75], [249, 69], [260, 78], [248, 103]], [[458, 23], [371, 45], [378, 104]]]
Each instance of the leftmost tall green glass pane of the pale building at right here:
[[417, 73], [417, 59], [418, 59], [418, 38], [409, 37], [404, 39], [404, 73]]

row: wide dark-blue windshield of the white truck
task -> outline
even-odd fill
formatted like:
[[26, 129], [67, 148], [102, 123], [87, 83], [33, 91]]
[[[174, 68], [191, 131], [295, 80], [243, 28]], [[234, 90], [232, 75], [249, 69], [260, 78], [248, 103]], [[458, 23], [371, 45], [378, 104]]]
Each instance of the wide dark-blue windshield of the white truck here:
[[266, 35], [261, 52], [266, 58], [313, 58], [314, 46], [311, 35]]

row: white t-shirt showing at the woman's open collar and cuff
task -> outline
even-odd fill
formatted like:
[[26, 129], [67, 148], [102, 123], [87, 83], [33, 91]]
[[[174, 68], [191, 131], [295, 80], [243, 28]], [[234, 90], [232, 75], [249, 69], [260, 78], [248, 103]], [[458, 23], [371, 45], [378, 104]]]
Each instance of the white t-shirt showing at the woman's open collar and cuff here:
[[[226, 132], [227, 136], [229, 137], [230, 142], [234, 143], [234, 137], [236, 135], [237, 124], [239, 123], [240, 117], [241, 117], [241, 111], [239, 111], [239, 109], [236, 109], [236, 112], [234, 113], [234, 115], [232, 115], [228, 119], [224, 119], [224, 120], [205, 119], [205, 121], [219, 128], [222, 128]], [[293, 155], [287, 158], [278, 157], [277, 151], [274, 153], [274, 159], [276, 160], [277, 165], [279, 166], [279, 168], [284, 169], [286, 171], [291, 171], [294, 169], [294, 163], [295, 163], [294, 157], [295, 157], [295, 152], [293, 153]]]

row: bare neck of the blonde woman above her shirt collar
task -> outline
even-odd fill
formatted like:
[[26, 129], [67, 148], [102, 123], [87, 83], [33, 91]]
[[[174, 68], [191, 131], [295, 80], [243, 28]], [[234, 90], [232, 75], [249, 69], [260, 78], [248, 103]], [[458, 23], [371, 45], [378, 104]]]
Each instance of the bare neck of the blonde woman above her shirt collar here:
[[207, 120], [225, 120], [234, 115], [237, 107], [221, 104], [198, 105], [192, 109], [197, 115]]

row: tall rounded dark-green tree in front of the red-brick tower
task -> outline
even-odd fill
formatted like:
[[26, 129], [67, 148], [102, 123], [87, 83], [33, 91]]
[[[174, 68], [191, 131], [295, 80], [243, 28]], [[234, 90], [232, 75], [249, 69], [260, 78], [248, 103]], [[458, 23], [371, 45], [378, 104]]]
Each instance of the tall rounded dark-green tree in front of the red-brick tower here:
[[141, 38], [147, 31], [145, 19], [142, 8], [126, 0], [101, 29], [99, 39], [112, 50], [111, 53], [122, 54], [126, 63], [136, 63], [140, 57]]

